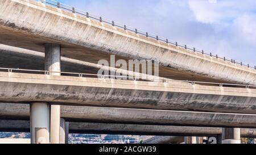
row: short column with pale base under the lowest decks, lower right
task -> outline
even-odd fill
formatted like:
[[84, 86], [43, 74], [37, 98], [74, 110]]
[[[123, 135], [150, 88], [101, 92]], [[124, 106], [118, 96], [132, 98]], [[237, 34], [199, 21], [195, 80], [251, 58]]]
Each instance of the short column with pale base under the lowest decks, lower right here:
[[222, 128], [222, 144], [241, 144], [240, 128]]

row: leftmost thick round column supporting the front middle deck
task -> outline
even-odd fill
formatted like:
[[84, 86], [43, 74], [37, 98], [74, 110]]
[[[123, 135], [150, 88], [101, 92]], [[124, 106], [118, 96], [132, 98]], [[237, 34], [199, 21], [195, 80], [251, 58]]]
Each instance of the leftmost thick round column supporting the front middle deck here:
[[49, 144], [49, 105], [30, 104], [31, 144]]

